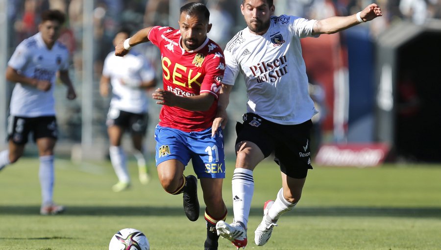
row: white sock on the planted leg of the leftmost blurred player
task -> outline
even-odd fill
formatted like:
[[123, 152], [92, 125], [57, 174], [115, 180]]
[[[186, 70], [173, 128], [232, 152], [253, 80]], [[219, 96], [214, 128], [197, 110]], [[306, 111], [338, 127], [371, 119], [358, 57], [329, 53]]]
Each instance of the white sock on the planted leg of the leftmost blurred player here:
[[39, 177], [43, 205], [52, 203], [54, 182], [53, 158], [53, 155], [40, 156]]

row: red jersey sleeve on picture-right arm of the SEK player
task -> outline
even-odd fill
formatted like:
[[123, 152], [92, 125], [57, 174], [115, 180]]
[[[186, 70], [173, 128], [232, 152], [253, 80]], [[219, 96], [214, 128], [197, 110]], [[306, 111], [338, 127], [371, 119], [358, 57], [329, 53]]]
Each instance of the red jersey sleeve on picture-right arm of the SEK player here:
[[218, 99], [225, 72], [225, 57], [221, 50], [217, 50], [209, 56], [211, 58], [205, 64], [205, 77], [200, 86], [200, 93], [210, 93]]

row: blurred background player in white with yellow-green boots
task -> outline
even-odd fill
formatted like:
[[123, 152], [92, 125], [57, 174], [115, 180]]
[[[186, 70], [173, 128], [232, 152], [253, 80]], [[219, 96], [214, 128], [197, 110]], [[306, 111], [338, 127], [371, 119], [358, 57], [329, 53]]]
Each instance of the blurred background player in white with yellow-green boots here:
[[[130, 31], [122, 28], [115, 35], [114, 46], [129, 37]], [[130, 186], [126, 156], [121, 147], [124, 130], [131, 133], [139, 180], [142, 184], [147, 184], [149, 180], [143, 140], [148, 121], [146, 91], [156, 85], [155, 71], [147, 58], [135, 50], [130, 50], [124, 57], [116, 56], [115, 51], [112, 51], [104, 60], [99, 83], [101, 96], [109, 95], [110, 84], [112, 85], [112, 98], [106, 125], [110, 141], [110, 161], [118, 177], [118, 183], [112, 189], [120, 192]]]

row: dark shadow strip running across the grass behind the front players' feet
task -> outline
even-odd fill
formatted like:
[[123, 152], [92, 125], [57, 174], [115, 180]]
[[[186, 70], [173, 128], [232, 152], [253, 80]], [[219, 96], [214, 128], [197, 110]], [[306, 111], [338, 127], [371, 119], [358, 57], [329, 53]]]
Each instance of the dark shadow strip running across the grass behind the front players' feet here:
[[[201, 205], [203, 217], [204, 205]], [[0, 215], [38, 215], [39, 206], [0, 206]], [[232, 213], [233, 208], [228, 207]], [[185, 216], [182, 207], [68, 206], [64, 215], [74, 216]], [[251, 208], [250, 216], [261, 216], [262, 208]], [[63, 215], [61, 215], [63, 216]], [[440, 218], [440, 207], [296, 207], [284, 216], [371, 216]]]

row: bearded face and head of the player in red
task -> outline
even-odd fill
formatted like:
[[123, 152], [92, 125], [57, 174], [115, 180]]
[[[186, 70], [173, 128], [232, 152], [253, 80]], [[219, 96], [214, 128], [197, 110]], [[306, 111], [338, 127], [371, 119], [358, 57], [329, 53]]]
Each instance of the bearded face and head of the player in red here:
[[203, 18], [183, 12], [179, 19], [179, 30], [184, 50], [195, 50], [201, 46], [207, 38], [210, 27], [211, 25]]

